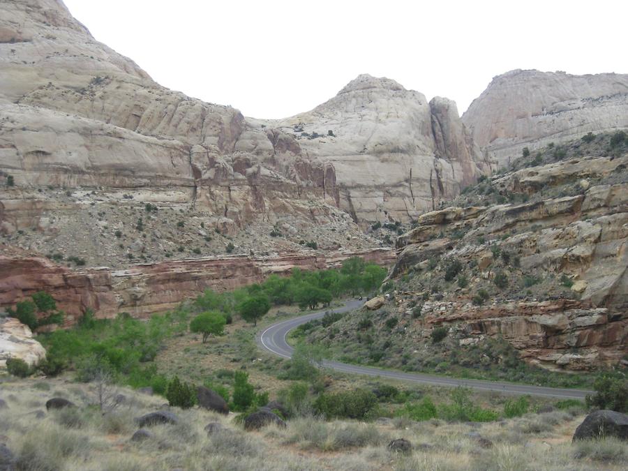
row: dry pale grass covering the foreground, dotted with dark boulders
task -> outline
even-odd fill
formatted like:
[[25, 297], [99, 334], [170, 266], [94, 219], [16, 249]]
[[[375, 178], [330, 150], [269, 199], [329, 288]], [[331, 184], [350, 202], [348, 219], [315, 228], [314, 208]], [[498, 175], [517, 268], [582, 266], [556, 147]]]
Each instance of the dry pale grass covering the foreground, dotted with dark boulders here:
[[[128, 401], [101, 414], [89, 407], [89, 386], [83, 384], [5, 381], [0, 391], [8, 404], [0, 410], [1, 440], [20, 470], [622, 470], [628, 464], [627, 447], [617, 440], [571, 443], [583, 416], [562, 411], [488, 424], [304, 417], [288, 421], [287, 428], [248, 433], [234, 414], [173, 409], [179, 424], [151, 427], [151, 438], [131, 442], [133, 418], [158, 410], [163, 398], [123, 390]], [[34, 412], [45, 410], [52, 396], [79, 408], [37, 419]], [[203, 428], [211, 421], [223, 430], [208, 436]], [[474, 433], [493, 447], [482, 447]], [[410, 440], [412, 454], [390, 453], [387, 444], [395, 438]]]

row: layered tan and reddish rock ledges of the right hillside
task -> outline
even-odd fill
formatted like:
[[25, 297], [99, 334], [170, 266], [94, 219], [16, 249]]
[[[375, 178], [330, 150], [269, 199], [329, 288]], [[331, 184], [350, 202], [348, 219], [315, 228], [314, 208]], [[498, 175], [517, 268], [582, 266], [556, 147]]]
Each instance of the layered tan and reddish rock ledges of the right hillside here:
[[[444, 290], [423, 304], [421, 322], [453, 326], [465, 345], [501, 336], [548, 368], [619, 364], [628, 353], [627, 165], [628, 155], [570, 158], [493, 177], [486, 188], [530, 201], [420, 216], [397, 239], [391, 277], [410, 271]], [[447, 287], [432, 260], [461, 262], [469, 287], [455, 278]], [[507, 280], [499, 288], [498, 274]]]

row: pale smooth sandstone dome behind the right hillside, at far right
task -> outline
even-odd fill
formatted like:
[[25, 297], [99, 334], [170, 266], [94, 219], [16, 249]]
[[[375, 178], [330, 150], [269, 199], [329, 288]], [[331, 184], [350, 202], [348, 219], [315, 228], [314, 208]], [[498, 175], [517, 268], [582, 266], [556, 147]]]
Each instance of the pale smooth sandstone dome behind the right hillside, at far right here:
[[523, 147], [628, 128], [628, 75], [511, 70], [493, 78], [462, 121], [503, 166]]

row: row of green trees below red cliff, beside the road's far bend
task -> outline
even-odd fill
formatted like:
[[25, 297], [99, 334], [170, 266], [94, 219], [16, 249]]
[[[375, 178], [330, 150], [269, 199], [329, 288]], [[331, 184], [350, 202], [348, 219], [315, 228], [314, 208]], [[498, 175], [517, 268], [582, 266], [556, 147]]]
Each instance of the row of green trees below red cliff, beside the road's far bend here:
[[[386, 276], [386, 269], [366, 263], [360, 257], [343, 262], [341, 269], [301, 271], [295, 268], [290, 276], [271, 275], [256, 283], [231, 292], [205, 290], [191, 308], [194, 313], [218, 312], [231, 322], [234, 314], [257, 324], [272, 305], [297, 304], [302, 309], [329, 306], [334, 297], [361, 294], [377, 290]], [[210, 334], [216, 334], [211, 331]], [[219, 334], [216, 334], [219, 335]], [[207, 338], [207, 337], [206, 337]]]

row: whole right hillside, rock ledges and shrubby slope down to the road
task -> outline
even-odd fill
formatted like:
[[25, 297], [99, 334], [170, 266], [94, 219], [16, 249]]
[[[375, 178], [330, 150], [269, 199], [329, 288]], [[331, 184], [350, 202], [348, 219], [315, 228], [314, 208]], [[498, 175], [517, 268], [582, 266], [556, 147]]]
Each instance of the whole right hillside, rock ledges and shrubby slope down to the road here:
[[599, 156], [609, 140], [566, 144], [559, 160], [542, 149], [419, 216], [396, 240], [389, 299], [308, 340], [344, 361], [505, 380], [522, 379], [519, 358], [628, 366], [628, 140]]

